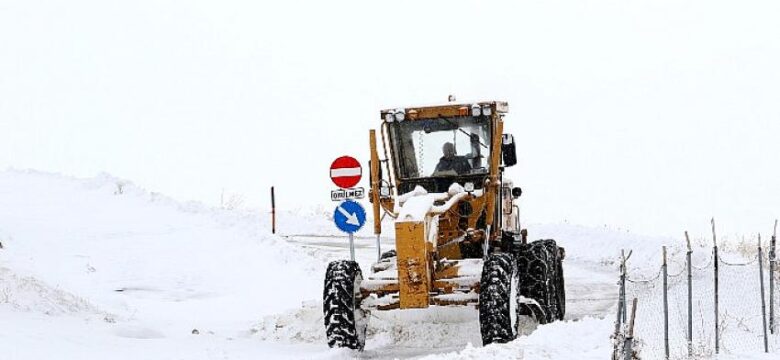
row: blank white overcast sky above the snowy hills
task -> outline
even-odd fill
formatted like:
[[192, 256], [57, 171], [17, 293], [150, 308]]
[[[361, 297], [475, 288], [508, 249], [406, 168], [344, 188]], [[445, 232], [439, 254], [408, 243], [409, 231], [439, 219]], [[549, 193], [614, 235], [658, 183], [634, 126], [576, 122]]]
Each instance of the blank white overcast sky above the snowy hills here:
[[0, 168], [330, 208], [379, 109], [456, 94], [509, 102], [526, 221], [780, 216], [780, 2], [421, 3], [0, 0]]

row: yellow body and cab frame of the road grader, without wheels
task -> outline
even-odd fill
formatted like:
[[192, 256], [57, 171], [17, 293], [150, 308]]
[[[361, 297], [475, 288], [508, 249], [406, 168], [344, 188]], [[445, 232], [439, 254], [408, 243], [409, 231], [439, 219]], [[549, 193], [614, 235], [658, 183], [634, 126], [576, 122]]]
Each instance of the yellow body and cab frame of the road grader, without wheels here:
[[[485, 171], [477, 175], [434, 179], [457, 183], [454, 190], [452, 187], [439, 192], [419, 190], [415, 182], [425, 183], [429, 180], [403, 176], [402, 168], [409, 167], [411, 161], [404, 158], [408, 154], [398, 150], [402, 146], [399, 144], [407, 141], [408, 145], [414, 139], [399, 138], [397, 129], [403, 126], [403, 122], [463, 119], [472, 115], [475, 106], [482, 109], [483, 114], [489, 113], [478, 118], [484, 122], [480, 124], [489, 128], [485, 141], [480, 141], [480, 146], [486, 148], [485, 155], [489, 155]], [[380, 160], [377, 134], [371, 130], [369, 199], [373, 205], [374, 231], [377, 235], [382, 230], [382, 217], [395, 219], [396, 254], [380, 259], [372, 266], [368, 278], [361, 284], [364, 303], [379, 310], [477, 303], [483, 246], [486, 242], [497, 244], [501, 241], [502, 227], [494, 225], [502, 222], [501, 216], [507, 218], [507, 204], [499, 204], [497, 200], [501, 198], [499, 192], [502, 190], [499, 166], [503, 116], [507, 111], [505, 102], [490, 101], [380, 112], [383, 119], [381, 149], [385, 158]], [[452, 123], [455, 124], [455, 120]], [[453, 133], [462, 131], [460, 128], [452, 130]], [[386, 178], [383, 178], [382, 165], [386, 170]], [[460, 187], [474, 180], [478, 182], [471, 186], [477, 189], [463, 191]], [[401, 218], [405, 202], [414, 196], [433, 199], [430, 209], [421, 218]], [[509, 202], [508, 216], [513, 217], [516, 215], [512, 213], [513, 208], [516, 207], [512, 206], [511, 199]], [[519, 232], [519, 229], [516, 230]]]

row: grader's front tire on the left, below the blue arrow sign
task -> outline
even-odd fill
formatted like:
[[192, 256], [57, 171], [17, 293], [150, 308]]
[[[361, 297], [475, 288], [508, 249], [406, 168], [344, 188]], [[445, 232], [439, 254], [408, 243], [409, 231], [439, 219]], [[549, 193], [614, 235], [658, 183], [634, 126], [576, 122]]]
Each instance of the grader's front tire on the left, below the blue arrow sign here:
[[328, 346], [363, 350], [368, 319], [360, 308], [363, 273], [354, 261], [339, 260], [328, 265], [323, 291], [325, 334]]

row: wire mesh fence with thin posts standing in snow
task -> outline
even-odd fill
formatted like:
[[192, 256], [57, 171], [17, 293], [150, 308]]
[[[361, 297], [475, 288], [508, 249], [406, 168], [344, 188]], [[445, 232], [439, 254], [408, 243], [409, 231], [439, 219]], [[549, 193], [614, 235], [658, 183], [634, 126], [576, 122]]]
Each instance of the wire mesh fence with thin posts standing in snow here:
[[[686, 234], [687, 237], [687, 234]], [[722, 253], [713, 246], [678, 251], [649, 276], [633, 274], [622, 256], [621, 301], [639, 299], [634, 351], [639, 359], [709, 358], [715, 354], [780, 353], [776, 235], [764, 249]], [[713, 243], [716, 244], [713, 231]], [[621, 305], [620, 309], [626, 307]], [[623, 310], [625, 311], [625, 310]], [[618, 316], [616, 328], [625, 316]]]

